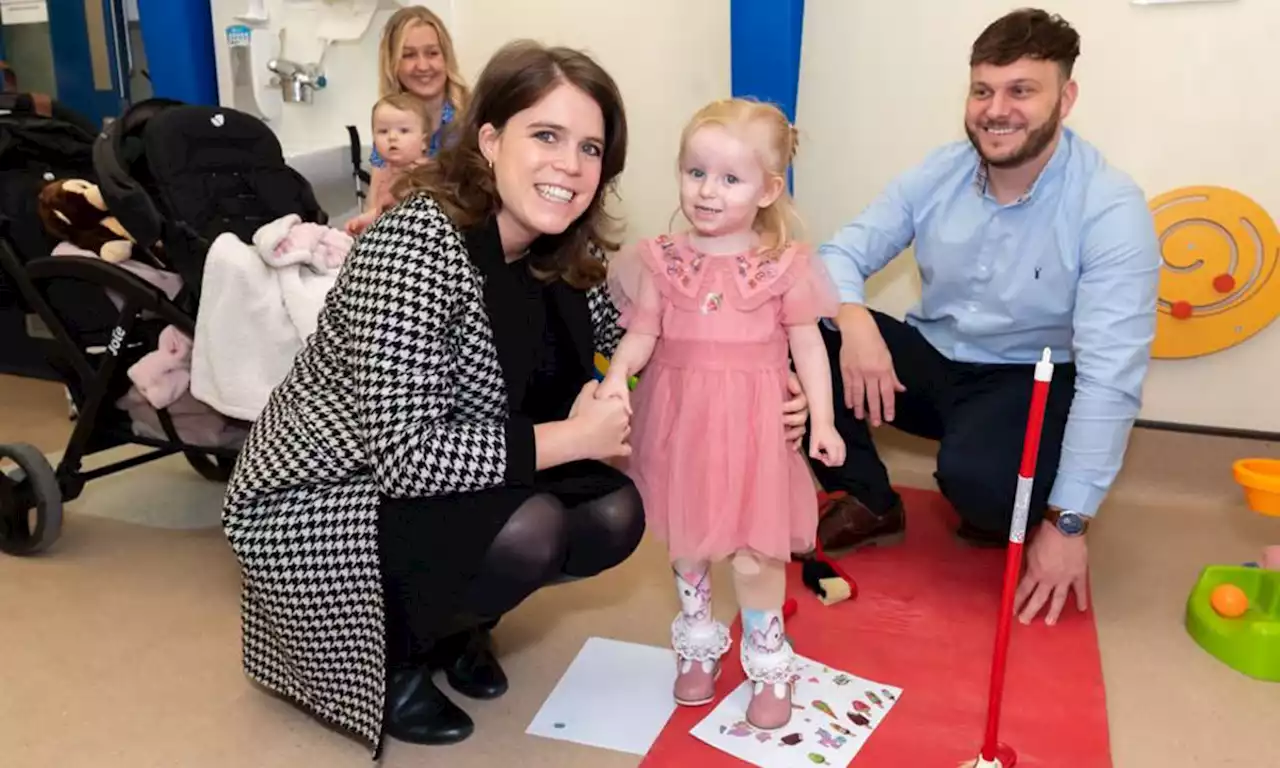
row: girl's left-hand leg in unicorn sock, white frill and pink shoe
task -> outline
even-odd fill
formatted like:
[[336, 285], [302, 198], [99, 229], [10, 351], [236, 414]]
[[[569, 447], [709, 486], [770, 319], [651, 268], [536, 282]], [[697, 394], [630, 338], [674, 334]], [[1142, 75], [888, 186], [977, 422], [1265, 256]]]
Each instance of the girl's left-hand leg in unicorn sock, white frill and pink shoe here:
[[680, 613], [671, 625], [671, 644], [676, 649], [676, 703], [687, 707], [716, 698], [719, 658], [730, 646], [728, 627], [712, 618], [712, 573], [705, 561], [677, 559], [676, 594]]

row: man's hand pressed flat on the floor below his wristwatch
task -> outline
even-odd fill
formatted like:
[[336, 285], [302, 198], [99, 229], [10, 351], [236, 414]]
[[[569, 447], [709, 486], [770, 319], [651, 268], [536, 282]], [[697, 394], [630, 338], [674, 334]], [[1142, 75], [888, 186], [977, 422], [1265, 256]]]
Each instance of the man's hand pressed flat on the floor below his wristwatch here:
[[1073, 589], [1076, 608], [1088, 611], [1088, 573], [1089, 548], [1084, 536], [1066, 536], [1051, 524], [1042, 522], [1027, 548], [1027, 572], [1014, 595], [1014, 611], [1020, 611], [1018, 620], [1030, 623], [1047, 603], [1044, 623], [1057, 623]]

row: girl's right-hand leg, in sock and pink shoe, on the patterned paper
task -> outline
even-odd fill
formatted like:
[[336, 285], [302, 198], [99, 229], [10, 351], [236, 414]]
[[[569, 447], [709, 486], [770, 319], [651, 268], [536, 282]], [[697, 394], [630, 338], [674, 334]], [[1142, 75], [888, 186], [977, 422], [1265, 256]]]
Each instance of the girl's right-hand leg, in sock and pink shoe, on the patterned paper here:
[[751, 552], [733, 556], [733, 588], [742, 611], [742, 669], [754, 684], [746, 719], [781, 728], [791, 719], [795, 653], [782, 622], [786, 563]]

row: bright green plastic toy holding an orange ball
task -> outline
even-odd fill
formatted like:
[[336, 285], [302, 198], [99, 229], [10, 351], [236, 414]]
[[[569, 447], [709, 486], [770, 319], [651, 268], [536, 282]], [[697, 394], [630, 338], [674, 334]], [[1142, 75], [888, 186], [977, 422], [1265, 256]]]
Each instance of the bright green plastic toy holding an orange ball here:
[[[1248, 598], [1238, 618], [1213, 609], [1213, 589], [1224, 584], [1234, 584]], [[1187, 598], [1187, 632], [1236, 672], [1280, 682], [1280, 571], [1208, 566]]]

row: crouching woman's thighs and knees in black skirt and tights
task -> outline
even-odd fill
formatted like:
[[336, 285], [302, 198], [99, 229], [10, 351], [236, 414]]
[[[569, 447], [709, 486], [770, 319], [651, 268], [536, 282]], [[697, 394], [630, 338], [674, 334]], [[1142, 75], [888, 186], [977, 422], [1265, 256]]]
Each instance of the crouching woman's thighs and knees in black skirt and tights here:
[[[384, 500], [379, 549], [392, 668], [447, 654], [461, 635], [492, 626], [543, 586], [594, 576], [635, 552], [644, 507], [621, 472], [603, 465], [586, 472], [566, 467], [545, 479], [543, 489], [503, 515], [495, 535], [485, 534], [483, 552], [458, 547], [448, 531], [483, 527], [508, 489]], [[456, 522], [442, 525], [442, 517]]]

